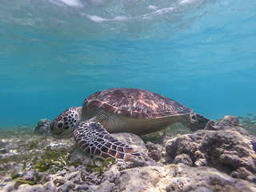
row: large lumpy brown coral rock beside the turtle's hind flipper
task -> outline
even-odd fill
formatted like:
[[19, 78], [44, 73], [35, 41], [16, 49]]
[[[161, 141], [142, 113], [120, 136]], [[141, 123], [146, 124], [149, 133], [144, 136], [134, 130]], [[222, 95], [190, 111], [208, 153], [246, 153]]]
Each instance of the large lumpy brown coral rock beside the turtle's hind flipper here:
[[[205, 130], [170, 139], [166, 142], [166, 154], [174, 162], [183, 162], [178, 159], [186, 155], [194, 166], [212, 166], [227, 174], [233, 172], [234, 177], [246, 178], [238, 170], [243, 167], [246, 173], [249, 171], [247, 175], [256, 174], [255, 143], [238, 118], [225, 116], [220, 122], [208, 122]], [[186, 161], [185, 164], [189, 165]]]

